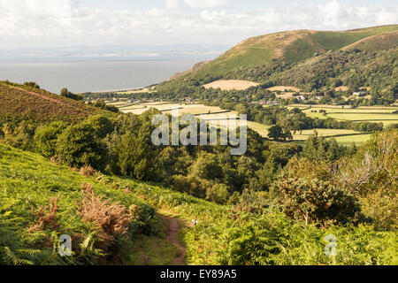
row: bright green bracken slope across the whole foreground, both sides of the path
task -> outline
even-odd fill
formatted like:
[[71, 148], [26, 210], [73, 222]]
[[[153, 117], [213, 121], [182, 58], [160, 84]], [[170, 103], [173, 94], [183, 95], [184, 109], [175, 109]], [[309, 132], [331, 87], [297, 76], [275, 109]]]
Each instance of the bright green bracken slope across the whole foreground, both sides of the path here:
[[[102, 201], [90, 203], [88, 187]], [[199, 220], [180, 233], [188, 264], [397, 263], [394, 231], [368, 225], [304, 226], [266, 210], [267, 195], [253, 192], [244, 203], [218, 205], [130, 178], [99, 172], [85, 177], [0, 143], [0, 264], [171, 264], [178, 250], [162, 238], [156, 209], [177, 214], [185, 223]], [[113, 230], [101, 221], [109, 214], [100, 213], [102, 207], [109, 211], [111, 203], [119, 203], [113, 220], [128, 217], [128, 229], [113, 241]], [[256, 212], [258, 207], [261, 212]], [[87, 210], [96, 221], [84, 217]], [[61, 234], [72, 236], [73, 257], [57, 256]], [[335, 257], [325, 256], [328, 234], [339, 239]]]

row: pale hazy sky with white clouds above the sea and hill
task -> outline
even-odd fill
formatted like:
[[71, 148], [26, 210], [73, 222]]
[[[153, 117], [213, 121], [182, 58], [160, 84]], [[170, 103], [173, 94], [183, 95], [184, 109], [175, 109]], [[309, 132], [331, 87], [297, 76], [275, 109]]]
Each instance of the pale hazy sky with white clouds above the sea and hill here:
[[397, 19], [396, 0], [0, 0], [0, 49], [234, 44], [283, 30], [342, 30]]

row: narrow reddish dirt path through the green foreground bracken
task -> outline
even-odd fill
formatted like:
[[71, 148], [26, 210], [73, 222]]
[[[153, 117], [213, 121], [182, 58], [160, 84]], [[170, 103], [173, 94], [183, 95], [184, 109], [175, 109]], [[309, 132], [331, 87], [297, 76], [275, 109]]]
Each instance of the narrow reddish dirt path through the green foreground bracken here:
[[180, 219], [165, 216], [163, 214], [157, 213], [157, 217], [164, 219], [167, 222], [167, 227], [165, 228], [165, 238], [167, 241], [177, 246], [180, 249], [178, 256], [172, 259], [173, 265], [186, 265], [185, 255], [187, 254], [187, 249], [179, 241], [179, 233], [181, 228], [187, 226], [185, 222]]

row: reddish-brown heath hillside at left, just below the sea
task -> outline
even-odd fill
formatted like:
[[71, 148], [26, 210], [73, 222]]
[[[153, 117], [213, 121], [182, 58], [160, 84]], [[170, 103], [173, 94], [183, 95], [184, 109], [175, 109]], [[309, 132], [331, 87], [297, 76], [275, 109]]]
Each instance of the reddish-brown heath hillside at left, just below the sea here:
[[22, 120], [34, 123], [55, 120], [76, 122], [100, 112], [96, 107], [40, 88], [0, 81], [0, 124]]

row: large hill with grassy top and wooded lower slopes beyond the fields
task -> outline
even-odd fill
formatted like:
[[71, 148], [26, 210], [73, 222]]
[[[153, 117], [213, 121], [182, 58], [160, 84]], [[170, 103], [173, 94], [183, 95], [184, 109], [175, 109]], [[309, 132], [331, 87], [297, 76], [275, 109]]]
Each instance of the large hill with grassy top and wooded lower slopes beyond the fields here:
[[[348, 85], [349, 80], [362, 80], [357, 81], [359, 85], [355, 87], [376, 83], [382, 90], [391, 85], [391, 76], [395, 80], [397, 46], [398, 25], [340, 32], [297, 30], [266, 34], [240, 42], [210, 62], [195, 65], [190, 71], [158, 85], [157, 91], [163, 93], [173, 88], [175, 93], [192, 93], [194, 88], [184, 86], [198, 87], [217, 80], [249, 80], [271, 87], [292, 85], [311, 91], [334, 88], [337, 79], [343, 80], [344, 85]], [[340, 57], [337, 60], [345, 64], [341, 66], [335, 57]], [[328, 70], [323, 65], [319, 69], [319, 64], [327, 60]], [[375, 70], [377, 75], [371, 74]], [[369, 75], [372, 80], [368, 80]]]

